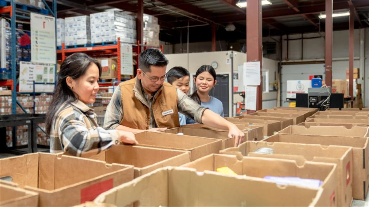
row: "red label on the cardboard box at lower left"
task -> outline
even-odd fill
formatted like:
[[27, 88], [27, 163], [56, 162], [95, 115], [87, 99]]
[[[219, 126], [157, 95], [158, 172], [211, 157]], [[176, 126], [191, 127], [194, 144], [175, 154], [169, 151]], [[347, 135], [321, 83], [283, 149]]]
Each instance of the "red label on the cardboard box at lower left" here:
[[93, 201], [101, 193], [113, 188], [113, 179], [105, 180], [81, 189], [81, 203]]

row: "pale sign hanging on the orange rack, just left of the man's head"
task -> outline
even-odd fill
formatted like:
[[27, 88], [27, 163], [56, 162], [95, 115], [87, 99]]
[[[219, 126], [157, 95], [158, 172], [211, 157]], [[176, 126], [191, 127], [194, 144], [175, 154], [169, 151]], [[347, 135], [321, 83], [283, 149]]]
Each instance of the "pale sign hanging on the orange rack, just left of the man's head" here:
[[120, 43], [120, 74], [133, 75], [133, 52], [132, 45]]

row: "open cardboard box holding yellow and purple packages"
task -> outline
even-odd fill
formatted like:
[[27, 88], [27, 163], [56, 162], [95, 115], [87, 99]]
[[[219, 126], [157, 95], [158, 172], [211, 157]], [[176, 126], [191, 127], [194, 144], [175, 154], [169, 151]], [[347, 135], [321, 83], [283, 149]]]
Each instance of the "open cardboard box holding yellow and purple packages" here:
[[335, 192], [337, 192], [337, 165], [323, 162], [306, 161], [298, 165], [289, 159], [274, 159], [262, 157], [239, 157], [235, 155], [212, 154], [182, 165], [194, 168], [196, 171], [217, 171], [217, 168], [228, 167], [238, 175], [264, 178], [265, 176], [299, 177], [317, 179], [323, 183], [322, 199], [330, 206], [337, 206]]

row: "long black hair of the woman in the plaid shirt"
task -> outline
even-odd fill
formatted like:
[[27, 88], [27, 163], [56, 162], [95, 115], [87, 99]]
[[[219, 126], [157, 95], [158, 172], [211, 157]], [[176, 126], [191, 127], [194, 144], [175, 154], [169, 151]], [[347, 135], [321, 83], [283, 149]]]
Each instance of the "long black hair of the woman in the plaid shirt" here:
[[85, 53], [73, 53], [63, 61], [58, 73], [58, 83], [56, 84], [54, 96], [52, 97], [49, 110], [46, 114], [46, 133], [50, 134], [51, 125], [54, 122], [54, 118], [57, 116], [56, 113], [61, 109], [61, 107], [77, 100], [75, 94], [66, 83], [66, 78], [71, 77], [73, 79], [77, 79], [83, 76], [91, 64], [96, 64], [99, 68], [100, 77], [100, 63]]

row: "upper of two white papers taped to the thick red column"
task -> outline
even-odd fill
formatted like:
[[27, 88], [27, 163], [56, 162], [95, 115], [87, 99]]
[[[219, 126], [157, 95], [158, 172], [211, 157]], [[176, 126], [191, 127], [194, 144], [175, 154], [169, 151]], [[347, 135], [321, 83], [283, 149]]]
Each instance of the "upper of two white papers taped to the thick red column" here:
[[260, 85], [260, 62], [244, 63], [244, 85]]

